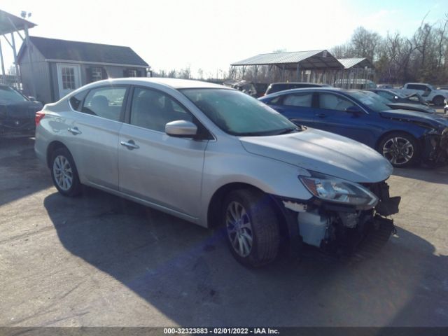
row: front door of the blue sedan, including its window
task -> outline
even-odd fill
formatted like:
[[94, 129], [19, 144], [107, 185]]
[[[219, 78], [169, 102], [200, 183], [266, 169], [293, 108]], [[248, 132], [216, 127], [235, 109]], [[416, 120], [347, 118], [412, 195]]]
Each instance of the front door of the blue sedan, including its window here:
[[[369, 123], [370, 116], [351, 99], [333, 92], [318, 92], [317, 106], [314, 110], [316, 128], [374, 146], [376, 138], [374, 127]], [[346, 111], [351, 106], [357, 106], [360, 111]]]

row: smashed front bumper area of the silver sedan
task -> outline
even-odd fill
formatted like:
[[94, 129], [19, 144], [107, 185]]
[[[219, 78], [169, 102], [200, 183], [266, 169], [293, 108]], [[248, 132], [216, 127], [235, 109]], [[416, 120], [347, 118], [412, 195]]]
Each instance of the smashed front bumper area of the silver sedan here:
[[[288, 226], [290, 252], [297, 254], [302, 244], [328, 252], [371, 255], [383, 246], [395, 227], [400, 197], [390, 197], [386, 182], [364, 183], [379, 199], [372, 209], [359, 210], [312, 198], [308, 201], [278, 198]], [[367, 248], [367, 249], [366, 249]]]

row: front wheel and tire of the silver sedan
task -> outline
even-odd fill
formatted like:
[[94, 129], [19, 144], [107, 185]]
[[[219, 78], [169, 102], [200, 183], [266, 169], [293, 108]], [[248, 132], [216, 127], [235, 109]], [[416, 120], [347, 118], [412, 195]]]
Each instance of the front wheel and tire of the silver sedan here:
[[238, 262], [260, 267], [274, 261], [279, 252], [279, 220], [267, 195], [251, 189], [232, 191], [225, 197], [221, 218]]

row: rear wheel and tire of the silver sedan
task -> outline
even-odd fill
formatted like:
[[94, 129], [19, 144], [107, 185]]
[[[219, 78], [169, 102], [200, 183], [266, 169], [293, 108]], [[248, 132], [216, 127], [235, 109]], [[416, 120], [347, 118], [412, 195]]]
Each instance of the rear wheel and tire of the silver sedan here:
[[57, 148], [51, 155], [51, 178], [59, 193], [74, 197], [81, 192], [78, 170], [67, 148]]

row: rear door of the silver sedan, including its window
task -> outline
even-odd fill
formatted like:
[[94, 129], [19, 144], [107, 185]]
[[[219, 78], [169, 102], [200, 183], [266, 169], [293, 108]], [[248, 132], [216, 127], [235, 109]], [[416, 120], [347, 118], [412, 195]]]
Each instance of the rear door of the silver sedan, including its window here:
[[128, 90], [105, 85], [70, 99], [78, 111], [68, 129], [76, 167], [89, 183], [113, 190], [118, 190], [118, 139]]

